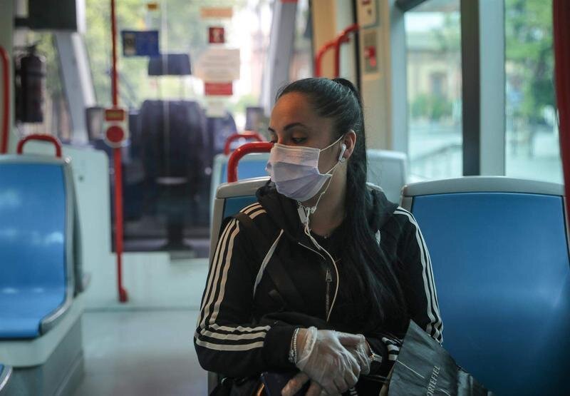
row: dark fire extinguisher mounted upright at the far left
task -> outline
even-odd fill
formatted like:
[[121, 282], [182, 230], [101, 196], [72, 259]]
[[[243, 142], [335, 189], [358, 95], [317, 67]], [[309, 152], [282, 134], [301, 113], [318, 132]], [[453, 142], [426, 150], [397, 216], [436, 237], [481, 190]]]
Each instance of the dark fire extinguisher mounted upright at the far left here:
[[46, 92], [46, 59], [36, 54], [36, 46], [16, 60], [16, 120], [23, 123], [43, 122]]

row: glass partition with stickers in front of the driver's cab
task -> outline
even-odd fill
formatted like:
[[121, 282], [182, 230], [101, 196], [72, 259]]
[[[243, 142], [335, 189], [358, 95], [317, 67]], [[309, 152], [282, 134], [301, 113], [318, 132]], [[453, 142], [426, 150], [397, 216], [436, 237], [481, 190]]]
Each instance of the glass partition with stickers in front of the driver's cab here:
[[[115, 4], [120, 104], [130, 113], [130, 142], [123, 149], [125, 250], [176, 250], [207, 257], [214, 156], [229, 135], [250, 128], [256, 118], [271, 1]], [[228, 7], [232, 16], [203, 17], [204, 9]], [[108, 2], [86, 0], [86, 45], [97, 101], [103, 107], [111, 102], [109, 14]], [[223, 28], [223, 40], [218, 28]], [[148, 57], [123, 56], [123, 30], [158, 30], [160, 54], [190, 56], [192, 74], [150, 76]], [[210, 44], [210, 39], [217, 42]], [[214, 47], [239, 50], [239, 60], [231, 57], [239, 75], [227, 81], [232, 87], [228, 96], [206, 96], [204, 81], [197, 76], [200, 59]], [[90, 143], [110, 155], [100, 137], [92, 136]]]

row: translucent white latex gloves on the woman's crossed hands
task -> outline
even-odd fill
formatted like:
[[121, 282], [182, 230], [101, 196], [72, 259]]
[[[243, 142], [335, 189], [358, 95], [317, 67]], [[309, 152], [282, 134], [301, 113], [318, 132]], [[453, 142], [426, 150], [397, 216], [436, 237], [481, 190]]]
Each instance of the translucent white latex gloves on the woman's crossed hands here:
[[[361, 336], [314, 327], [301, 329], [297, 335], [296, 365], [328, 395], [338, 395], [353, 387], [361, 374], [360, 363], [343, 343], [356, 346], [359, 342]], [[294, 395], [298, 390], [288, 383], [281, 394]]]

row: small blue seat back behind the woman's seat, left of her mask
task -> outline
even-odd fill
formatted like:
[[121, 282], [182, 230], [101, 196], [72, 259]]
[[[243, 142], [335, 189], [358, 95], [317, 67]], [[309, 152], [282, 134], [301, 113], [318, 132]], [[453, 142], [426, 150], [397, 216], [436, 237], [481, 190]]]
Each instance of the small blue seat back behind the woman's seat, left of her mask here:
[[[237, 174], [239, 179], [260, 178], [267, 176], [265, 166], [269, 159], [269, 153], [251, 153], [247, 154], [239, 160], [237, 164]], [[210, 205], [210, 218], [214, 213], [214, 198], [218, 186], [227, 182], [227, 161], [229, 156], [218, 154], [214, 157], [214, 166], [212, 167], [212, 184], [210, 185], [210, 194], [212, 197], [212, 205]]]

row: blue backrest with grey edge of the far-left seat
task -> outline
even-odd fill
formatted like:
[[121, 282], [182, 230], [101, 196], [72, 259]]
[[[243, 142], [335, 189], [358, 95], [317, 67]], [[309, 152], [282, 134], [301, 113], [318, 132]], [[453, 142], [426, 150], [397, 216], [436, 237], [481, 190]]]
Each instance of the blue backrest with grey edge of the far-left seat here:
[[53, 290], [62, 309], [43, 318], [51, 328], [73, 299], [74, 191], [68, 160], [0, 157], [0, 297]]

